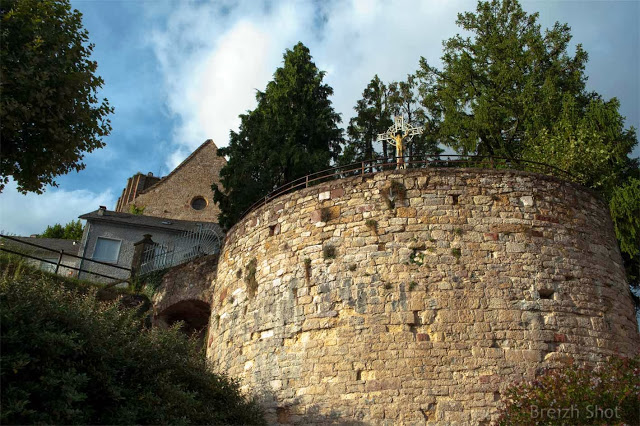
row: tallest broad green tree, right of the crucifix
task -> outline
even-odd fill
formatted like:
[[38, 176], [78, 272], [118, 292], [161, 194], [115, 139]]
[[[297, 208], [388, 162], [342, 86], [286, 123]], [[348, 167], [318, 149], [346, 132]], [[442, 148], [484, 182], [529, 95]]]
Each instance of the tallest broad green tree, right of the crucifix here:
[[421, 102], [439, 142], [463, 154], [518, 158], [552, 127], [567, 94], [587, 102], [587, 53], [579, 44], [568, 53], [568, 25], [543, 33], [537, 20], [515, 0], [479, 2], [476, 13], [458, 14], [471, 36], [444, 42], [442, 70], [421, 58]]

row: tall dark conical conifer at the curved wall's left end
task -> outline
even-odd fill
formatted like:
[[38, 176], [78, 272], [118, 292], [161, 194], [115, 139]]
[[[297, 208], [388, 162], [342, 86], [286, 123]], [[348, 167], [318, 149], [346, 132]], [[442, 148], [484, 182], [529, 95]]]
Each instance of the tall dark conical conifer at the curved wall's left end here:
[[229, 146], [218, 150], [228, 157], [220, 171], [224, 188], [213, 185], [219, 203], [219, 223], [231, 227], [252, 203], [270, 191], [330, 166], [341, 150], [340, 116], [322, 83], [324, 72], [311, 60], [302, 43], [284, 54], [258, 105], [240, 115], [240, 128], [230, 134]]

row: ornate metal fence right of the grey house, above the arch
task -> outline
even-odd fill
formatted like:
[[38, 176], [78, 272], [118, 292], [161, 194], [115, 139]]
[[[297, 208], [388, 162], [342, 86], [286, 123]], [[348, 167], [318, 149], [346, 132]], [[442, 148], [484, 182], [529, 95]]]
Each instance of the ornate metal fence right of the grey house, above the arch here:
[[142, 252], [139, 274], [148, 274], [218, 253], [222, 237], [217, 227], [201, 224], [197, 230], [186, 231], [168, 242], [150, 244]]

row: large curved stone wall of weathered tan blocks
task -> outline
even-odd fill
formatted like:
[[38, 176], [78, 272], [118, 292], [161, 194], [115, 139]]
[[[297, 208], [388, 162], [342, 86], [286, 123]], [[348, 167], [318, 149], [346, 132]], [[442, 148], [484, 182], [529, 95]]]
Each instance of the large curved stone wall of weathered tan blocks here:
[[207, 356], [279, 423], [482, 423], [546, 366], [640, 348], [607, 207], [537, 174], [348, 178], [245, 217]]

